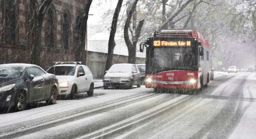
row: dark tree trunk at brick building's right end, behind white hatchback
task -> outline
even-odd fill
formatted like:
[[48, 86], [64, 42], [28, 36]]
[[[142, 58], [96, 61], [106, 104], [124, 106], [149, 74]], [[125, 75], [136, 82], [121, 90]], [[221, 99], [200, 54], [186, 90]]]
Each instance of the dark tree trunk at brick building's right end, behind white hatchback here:
[[[83, 9], [83, 16], [82, 16], [82, 33], [81, 33], [81, 42], [82, 45], [78, 45], [77, 51], [76, 51], [76, 61], [83, 61], [83, 52], [85, 48], [85, 34], [87, 32], [87, 20], [88, 20], [88, 13], [90, 10], [90, 6], [92, 4], [92, 0], [86, 0], [84, 9]], [[86, 62], [86, 61], [85, 61]]]

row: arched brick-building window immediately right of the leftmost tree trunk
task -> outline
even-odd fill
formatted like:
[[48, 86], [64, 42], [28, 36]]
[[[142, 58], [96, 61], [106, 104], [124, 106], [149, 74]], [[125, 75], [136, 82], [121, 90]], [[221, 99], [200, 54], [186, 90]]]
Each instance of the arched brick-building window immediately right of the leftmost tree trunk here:
[[47, 13], [47, 26], [46, 26], [46, 47], [54, 48], [54, 23], [53, 23], [54, 10], [48, 9]]

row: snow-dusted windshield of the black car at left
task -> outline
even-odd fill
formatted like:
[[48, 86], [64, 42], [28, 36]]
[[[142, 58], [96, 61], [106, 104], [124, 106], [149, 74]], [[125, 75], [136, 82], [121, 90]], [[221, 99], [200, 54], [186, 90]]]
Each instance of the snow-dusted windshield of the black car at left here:
[[3, 78], [19, 78], [25, 66], [17, 66], [17, 65], [1, 65], [0, 66], [0, 79]]

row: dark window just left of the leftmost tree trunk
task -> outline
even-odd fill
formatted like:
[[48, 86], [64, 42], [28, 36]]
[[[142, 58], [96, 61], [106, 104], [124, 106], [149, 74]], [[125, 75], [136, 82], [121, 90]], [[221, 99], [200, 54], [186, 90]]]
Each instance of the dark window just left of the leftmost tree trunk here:
[[26, 32], [26, 41], [27, 41], [27, 44], [29, 45], [33, 45], [33, 42], [34, 42], [34, 37], [35, 37], [35, 2], [32, 0], [28, 0], [27, 1], [27, 5], [28, 5], [28, 8], [27, 8], [27, 20], [26, 20], [26, 23], [27, 23], [27, 32]]

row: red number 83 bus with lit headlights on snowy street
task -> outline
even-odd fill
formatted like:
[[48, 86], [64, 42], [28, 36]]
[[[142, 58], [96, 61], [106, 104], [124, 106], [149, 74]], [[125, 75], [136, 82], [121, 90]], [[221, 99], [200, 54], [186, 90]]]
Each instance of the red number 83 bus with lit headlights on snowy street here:
[[146, 88], [199, 89], [212, 77], [210, 47], [198, 31], [163, 29], [140, 44], [146, 47]]

